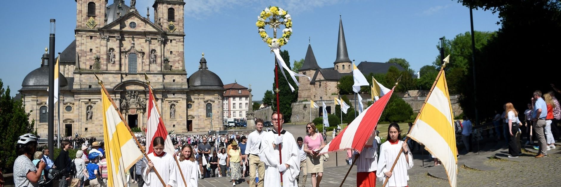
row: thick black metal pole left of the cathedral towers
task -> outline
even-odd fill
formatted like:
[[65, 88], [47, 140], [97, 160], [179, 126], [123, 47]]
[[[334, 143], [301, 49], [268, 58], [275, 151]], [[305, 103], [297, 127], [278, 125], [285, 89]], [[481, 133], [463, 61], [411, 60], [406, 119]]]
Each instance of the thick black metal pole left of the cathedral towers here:
[[50, 34], [49, 34], [49, 129], [48, 129], [48, 144], [49, 144], [49, 157], [53, 159], [54, 156], [54, 26], [55, 20], [50, 19]]

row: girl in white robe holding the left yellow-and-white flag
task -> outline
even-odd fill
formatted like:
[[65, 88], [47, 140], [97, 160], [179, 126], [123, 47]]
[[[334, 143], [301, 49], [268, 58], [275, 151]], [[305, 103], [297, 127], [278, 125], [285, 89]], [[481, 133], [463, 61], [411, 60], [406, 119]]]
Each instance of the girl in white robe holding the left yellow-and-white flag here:
[[177, 187], [177, 164], [173, 158], [173, 153], [164, 152], [164, 139], [161, 136], [154, 138], [152, 144], [154, 152], [148, 154], [150, 162], [142, 163], [142, 179], [144, 187], [163, 187], [154, 169], [164, 180], [166, 187]]

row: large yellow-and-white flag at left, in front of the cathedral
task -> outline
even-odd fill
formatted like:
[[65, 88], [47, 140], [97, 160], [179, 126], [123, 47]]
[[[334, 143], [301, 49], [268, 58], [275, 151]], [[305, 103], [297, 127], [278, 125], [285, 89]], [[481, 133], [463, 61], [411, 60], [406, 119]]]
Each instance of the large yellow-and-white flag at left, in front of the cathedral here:
[[107, 158], [107, 186], [127, 185], [127, 171], [142, 158], [142, 153], [132, 138], [125, 122], [119, 117], [102, 88], [103, 139]]

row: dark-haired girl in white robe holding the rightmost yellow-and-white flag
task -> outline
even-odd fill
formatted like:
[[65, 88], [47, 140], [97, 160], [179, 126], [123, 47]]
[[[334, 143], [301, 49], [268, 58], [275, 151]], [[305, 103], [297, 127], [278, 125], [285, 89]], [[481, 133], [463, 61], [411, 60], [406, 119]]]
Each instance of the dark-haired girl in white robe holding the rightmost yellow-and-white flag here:
[[[399, 130], [398, 124], [389, 124], [388, 141], [380, 145], [380, 157], [378, 158], [376, 176], [378, 176], [380, 181], [384, 181], [385, 177], [389, 177], [388, 183], [385, 186], [407, 186], [407, 181], [409, 180], [407, 170], [413, 167], [413, 156], [407, 147], [407, 143], [400, 140], [400, 133], [401, 130]], [[403, 152], [398, 155], [400, 149], [403, 149]], [[399, 159], [396, 167], [390, 172], [389, 170], [392, 168], [397, 156], [399, 156]]]

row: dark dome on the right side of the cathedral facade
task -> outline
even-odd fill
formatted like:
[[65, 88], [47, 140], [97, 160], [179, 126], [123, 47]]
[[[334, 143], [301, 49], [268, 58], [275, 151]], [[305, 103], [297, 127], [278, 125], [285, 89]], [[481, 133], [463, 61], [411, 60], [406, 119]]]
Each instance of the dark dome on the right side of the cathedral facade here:
[[206, 67], [204, 54], [199, 63], [199, 71], [196, 71], [189, 77], [190, 89], [223, 90], [224, 84], [220, 77], [214, 72], [209, 71], [208, 67]]

